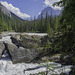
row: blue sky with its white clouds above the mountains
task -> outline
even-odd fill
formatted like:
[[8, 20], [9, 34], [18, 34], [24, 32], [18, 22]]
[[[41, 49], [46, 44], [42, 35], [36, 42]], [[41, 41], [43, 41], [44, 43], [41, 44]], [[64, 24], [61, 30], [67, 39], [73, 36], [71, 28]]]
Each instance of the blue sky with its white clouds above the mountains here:
[[26, 19], [38, 16], [39, 13], [47, 6], [59, 0], [0, 0], [8, 10], [17, 16]]

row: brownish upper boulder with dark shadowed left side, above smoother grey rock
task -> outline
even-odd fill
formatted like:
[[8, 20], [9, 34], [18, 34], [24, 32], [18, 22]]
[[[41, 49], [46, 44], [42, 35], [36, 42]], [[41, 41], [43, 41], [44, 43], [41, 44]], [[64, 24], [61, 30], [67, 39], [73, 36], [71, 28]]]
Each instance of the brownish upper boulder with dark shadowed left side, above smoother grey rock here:
[[41, 44], [41, 38], [43, 36], [27, 34], [11, 36], [12, 42], [15, 45], [23, 46], [24, 48], [38, 48]]

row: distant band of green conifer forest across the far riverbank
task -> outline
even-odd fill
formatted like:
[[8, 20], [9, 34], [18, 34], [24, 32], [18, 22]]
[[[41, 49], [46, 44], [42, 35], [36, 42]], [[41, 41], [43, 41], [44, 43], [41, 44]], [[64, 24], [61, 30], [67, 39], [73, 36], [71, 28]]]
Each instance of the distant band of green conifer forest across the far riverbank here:
[[46, 18], [43, 18], [41, 14], [40, 19], [34, 20], [22, 20], [16, 19], [15, 16], [11, 17], [6, 16], [0, 10], [0, 19], [1, 19], [1, 31], [15, 31], [15, 32], [40, 32], [40, 33], [52, 33], [58, 32], [59, 26], [59, 16], [48, 16], [46, 12]]

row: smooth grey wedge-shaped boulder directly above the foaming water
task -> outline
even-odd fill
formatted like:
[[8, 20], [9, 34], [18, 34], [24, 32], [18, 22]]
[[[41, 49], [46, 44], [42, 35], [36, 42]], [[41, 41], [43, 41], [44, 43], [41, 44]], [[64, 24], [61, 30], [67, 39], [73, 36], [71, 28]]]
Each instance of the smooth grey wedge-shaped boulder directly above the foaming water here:
[[18, 48], [15, 44], [12, 43], [6, 43], [6, 46], [13, 63], [32, 62], [37, 57], [39, 57], [39, 48]]

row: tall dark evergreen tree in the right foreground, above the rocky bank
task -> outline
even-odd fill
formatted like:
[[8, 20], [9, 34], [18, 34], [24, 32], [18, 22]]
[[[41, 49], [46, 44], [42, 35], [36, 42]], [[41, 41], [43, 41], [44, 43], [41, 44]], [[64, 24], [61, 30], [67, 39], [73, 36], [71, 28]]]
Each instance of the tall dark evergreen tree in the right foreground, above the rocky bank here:
[[[73, 52], [75, 44], [75, 0], [61, 0], [56, 5], [63, 6], [63, 12], [60, 19], [60, 29], [62, 36], [59, 37], [57, 44], [63, 52]], [[65, 14], [66, 13], [66, 14]]]

